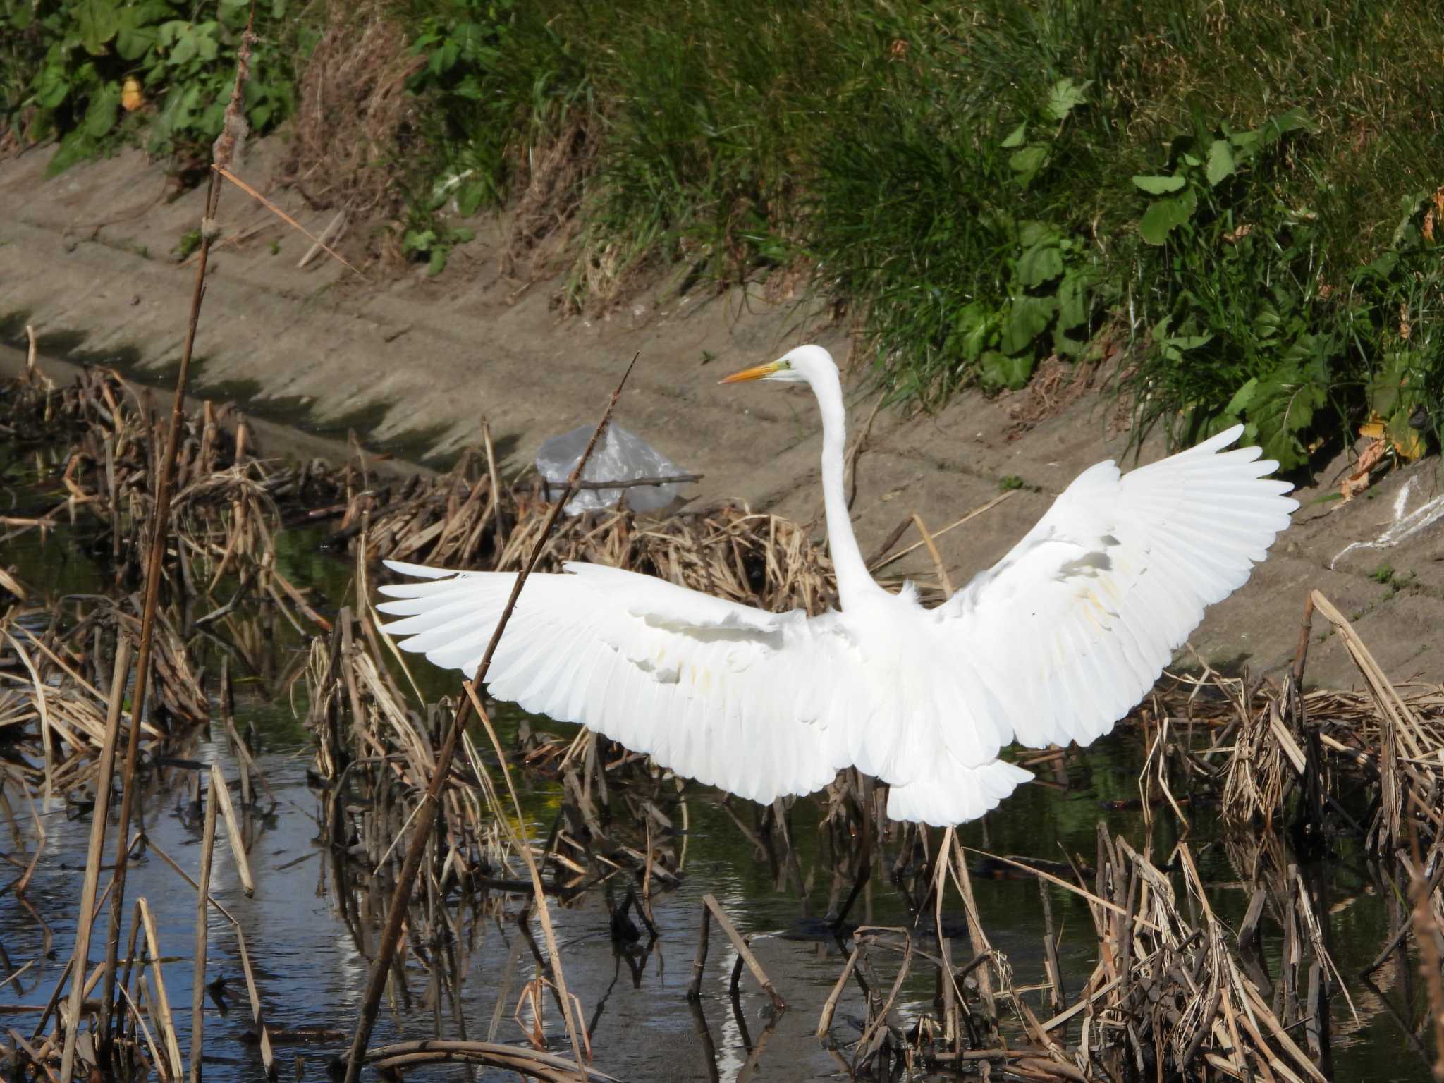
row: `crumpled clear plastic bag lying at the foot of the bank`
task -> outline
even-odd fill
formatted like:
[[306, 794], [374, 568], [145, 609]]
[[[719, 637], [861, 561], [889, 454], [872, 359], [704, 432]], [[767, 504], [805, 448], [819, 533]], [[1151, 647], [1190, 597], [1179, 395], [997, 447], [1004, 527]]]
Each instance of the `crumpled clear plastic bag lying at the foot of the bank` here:
[[[560, 500], [566, 488], [566, 479], [572, 477], [576, 461], [586, 451], [586, 442], [592, 438], [592, 426], [572, 429], [560, 436], [553, 436], [537, 451], [537, 471], [554, 488], [553, 500]], [[583, 481], [635, 481], [637, 478], [666, 478], [684, 471], [666, 455], [647, 443], [635, 433], [630, 433], [619, 425], [608, 425], [596, 442], [592, 458], [582, 471]], [[627, 490], [578, 490], [576, 495], [567, 501], [565, 508], [569, 516], [580, 516], [583, 511], [615, 507], [627, 494], [627, 507], [635, 511], [657, 511], [667, 507], [682, 491], [680, 484], [671, 485], [632, 485]]]

